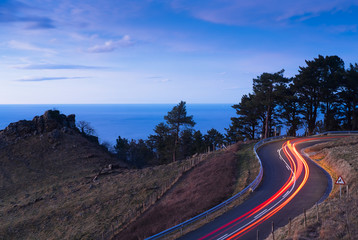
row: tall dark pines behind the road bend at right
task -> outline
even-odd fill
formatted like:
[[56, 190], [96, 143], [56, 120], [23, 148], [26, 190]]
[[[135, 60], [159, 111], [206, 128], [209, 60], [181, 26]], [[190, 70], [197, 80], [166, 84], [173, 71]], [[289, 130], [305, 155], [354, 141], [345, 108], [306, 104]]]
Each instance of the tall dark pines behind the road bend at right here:
[[302, 128], [305, 135], [358, 130], [357, 63], [345, 69], [338, 56], [321, 55], [305, 62], [292, 78], [281, 70], [253, 79], [253, 92], [233, 106], [237, 116], [226, 129], [228, 142], [271, 137], [281, 127], [290, 136]]

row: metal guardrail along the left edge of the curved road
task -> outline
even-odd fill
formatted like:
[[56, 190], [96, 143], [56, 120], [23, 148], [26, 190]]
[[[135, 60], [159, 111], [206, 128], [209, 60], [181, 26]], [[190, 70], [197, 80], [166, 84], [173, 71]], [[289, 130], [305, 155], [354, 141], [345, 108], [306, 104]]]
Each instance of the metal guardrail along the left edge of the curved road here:
[[185, 226], [188, 226], [189, 224], [192, 224], [204, 217], [207, 217], [209, 214], [211, 213], [214, 213], [218, 210], [220, 210], [221, 208], [223, 207], [226, 207], [228, 204], [232, 203], [233, 201], [235, 201], [237, 198], [241, 197], [243, 194], [245, 194], [247, 191], [249, 191], [251, 189], [251, 191], [254, 191], [257, 186], [260, 184], [261, 180], [262, 180], [262, 177], [263, 177], [263, 169], [262, 169], [262, 163], [261, 163], [261, 160], [260, 160], [260, 157], [258, 156], [257, 154], [257, 149], [260, 148], [262, 145], [268, 143], [268, 142], [271, 142], [271, 141], [275, 141], [275, 140], [280, 140], [280, 139], [284, 139], [286, 138], [286, 136], [277, 136], [277, 137], [271, 137], [271, 138], [266, 138], [264, 140], [261, 140], [259, 141], [258, 143], [255, 144], [254, 146], [254, 152], [255, 152], [255, 155], [256, 155], [256, 158], [257, 160], [259, 161], [259, 164], [260, 164], [260, 172], [259, 174], [257, 175], [257, 177], [255, 178], [254, 181], [252, 181], [246, 188], [244, 188], [241, 192], [235, 194], [234, 196], [232, 196], [231, 198], [225, 200], [224, 202], [216, 205], [215, 207], [213, 208], [210, 208], [209, 210], [199, 214], [199, 215], [196, 215], [195, 217], [193, 218], [190, 218], [189, 220], [185, 221], [185, 222], [182, 222], [174, 227], [171, 227], [171, 228], [168, 228], [160, 233], [157, 233], [151, 237], [148, 237], [146, 238], [146, 240], [152, 240], [152, 239], [159, 239], [161, 237], [164, 237], [176, 230], [182, 230]]

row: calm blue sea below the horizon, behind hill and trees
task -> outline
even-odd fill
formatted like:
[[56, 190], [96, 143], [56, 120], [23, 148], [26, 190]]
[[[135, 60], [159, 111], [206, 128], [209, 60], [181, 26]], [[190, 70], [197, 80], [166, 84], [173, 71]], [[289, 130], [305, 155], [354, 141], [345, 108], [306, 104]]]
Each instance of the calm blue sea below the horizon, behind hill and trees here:
[[[118, 136], [127, 139], [147, 139], [154, 127], [165, 122], [164, 116], [176, 104], [20, 104], [0, 105], [0, 130], [19, 120], [32, 120], [47, 110], [75, 114], [76, 122], [86, 121], [95, 130], [101, 143], [114, 145]], [[193, 115], [195, 130], [203, 134], [214, 128], [225, 133], [233, 104], [186, 104], [187, 115]]]

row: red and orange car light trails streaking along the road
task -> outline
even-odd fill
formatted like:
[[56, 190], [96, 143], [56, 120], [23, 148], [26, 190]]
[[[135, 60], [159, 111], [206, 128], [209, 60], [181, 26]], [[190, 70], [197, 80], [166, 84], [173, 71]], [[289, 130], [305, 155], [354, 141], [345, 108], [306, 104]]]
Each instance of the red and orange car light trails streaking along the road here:
[[[275, 215], [282, 208], [284, 208], [301, 191], [301, 189], [306, 184], [310, 174], [308, 164], [303, 156], [297, 151], [296, 145], [307, 141], [321, 139], [323, 138], [302, 139], [285, 142], [282, 145], [282, 148], [277, 151], [280, 159], [284, 162], [286, 168], [290, 171], [290, 175], [282, 187], [263, 203], [259, 204], [240, 217], [232, 220], [231, 222], [212, 231], [211, 233], [201, 237], [200, 240], [239, 239], [247, 232], [257, 227], [259, 224], [263, 223]], [[287, 158], [288, 163], [282, 157], [281, 151]], [[298, 179], [302, 180], [298, 181]], [[297, 181], [298, 184], [296, 184]]]

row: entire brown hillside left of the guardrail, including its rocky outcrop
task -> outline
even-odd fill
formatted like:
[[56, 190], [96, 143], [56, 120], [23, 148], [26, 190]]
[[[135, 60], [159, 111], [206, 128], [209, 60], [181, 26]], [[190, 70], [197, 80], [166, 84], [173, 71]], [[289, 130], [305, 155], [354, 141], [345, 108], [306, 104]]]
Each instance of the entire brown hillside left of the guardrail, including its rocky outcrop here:
[[[181, 221], [252, 181], [258, 164], [251, 149], [252, 144], [241, 144], [229, 151], [129, 169], [80, 133], [74, 115], [47, 111], [32, 121], [12, 123], [0, 131], [0, 239], [111, 239], [176, 197], [200, 193], [199, 198], [206, 199], [201, 193], [219, 184], [215, 179], [226, 179], [220, 182], [226, 191], [211, 194], [205, 206], [191, 208], [189, 215], [184, 211], [176, 219]], [[192, 187], [185, 187], [193, 181]]]

